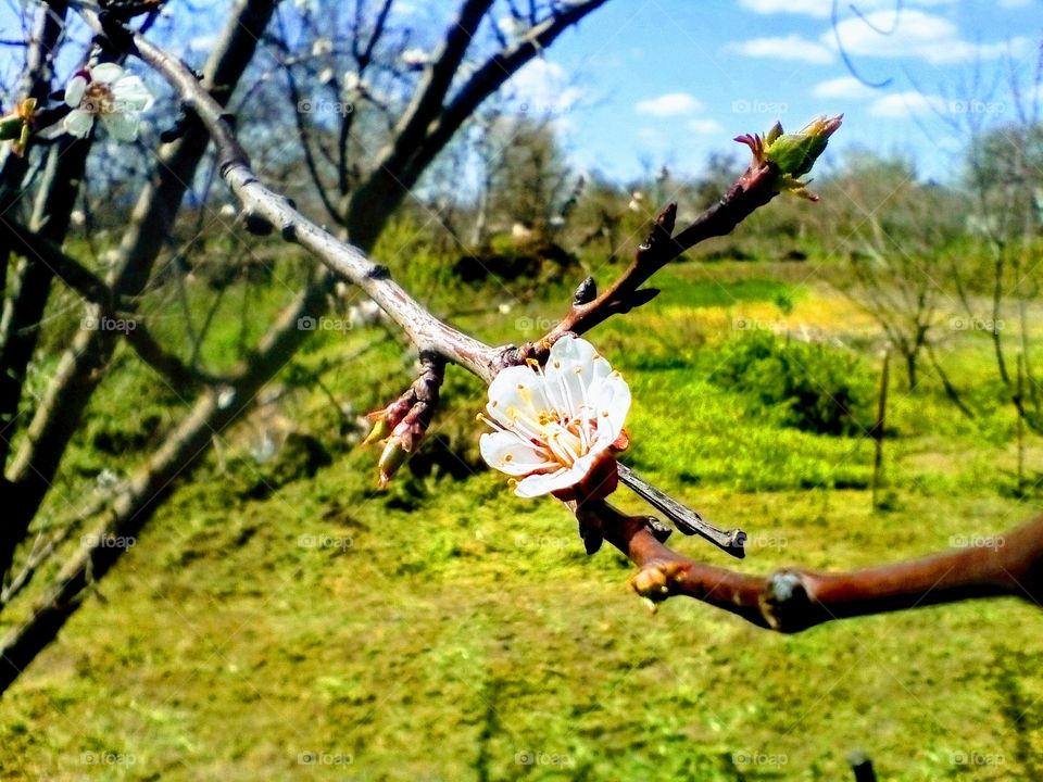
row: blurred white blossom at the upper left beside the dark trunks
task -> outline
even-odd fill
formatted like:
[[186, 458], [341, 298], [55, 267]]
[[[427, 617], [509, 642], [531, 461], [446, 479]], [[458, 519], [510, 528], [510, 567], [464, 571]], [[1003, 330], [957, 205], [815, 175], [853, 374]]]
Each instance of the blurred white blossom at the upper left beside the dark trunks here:
[[72, 106], [63, 123], [66, 133], [87, 138], [101, 117], [105, 129], [120, 141], [138, 137], [140, 114], [152, 105], [152, 93], [137, 76], [115, 63], [101, 63], [78, 71], [65, 86], [65, 103]]

